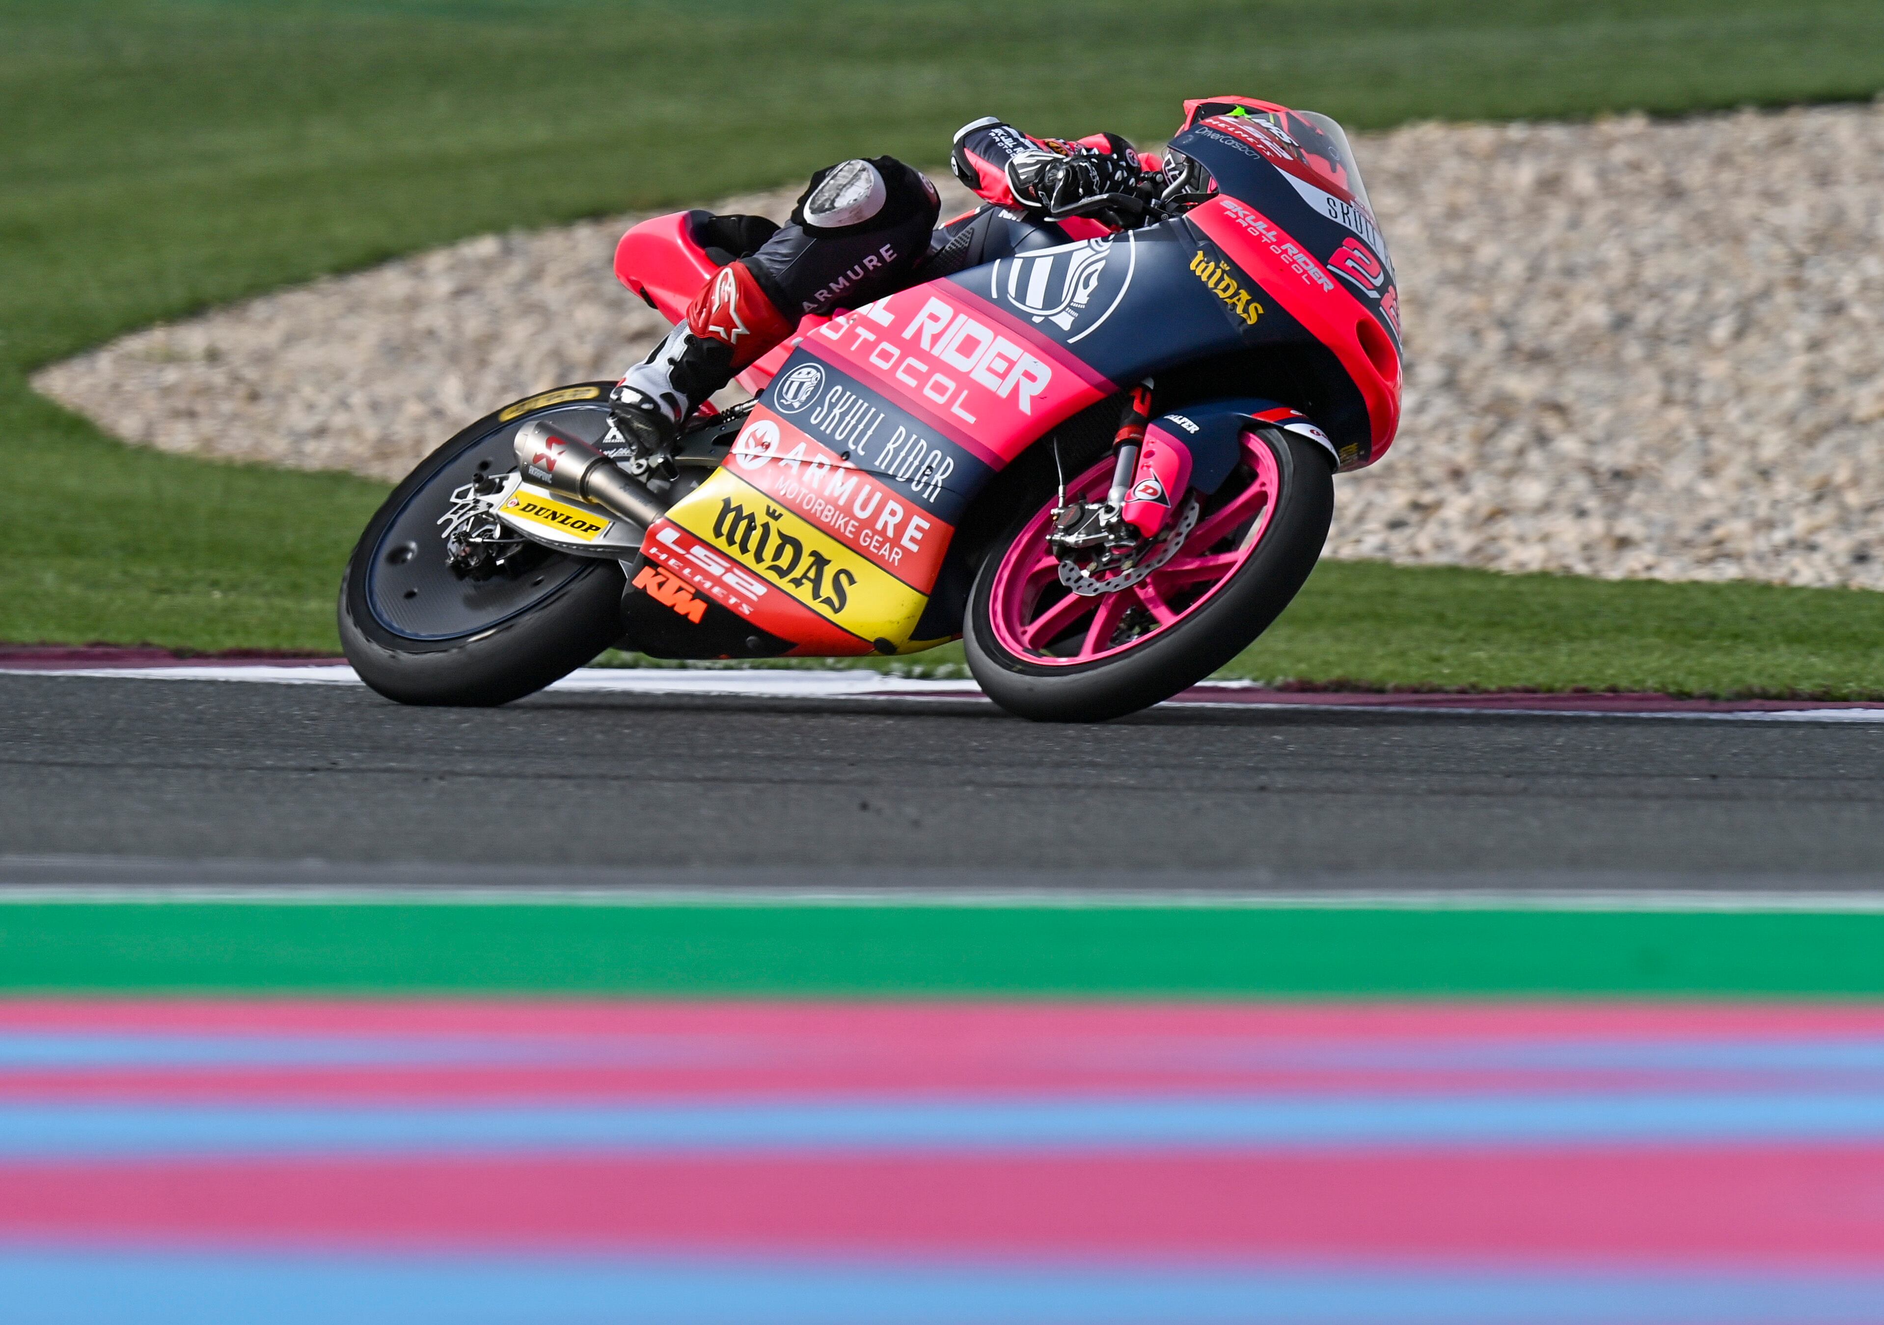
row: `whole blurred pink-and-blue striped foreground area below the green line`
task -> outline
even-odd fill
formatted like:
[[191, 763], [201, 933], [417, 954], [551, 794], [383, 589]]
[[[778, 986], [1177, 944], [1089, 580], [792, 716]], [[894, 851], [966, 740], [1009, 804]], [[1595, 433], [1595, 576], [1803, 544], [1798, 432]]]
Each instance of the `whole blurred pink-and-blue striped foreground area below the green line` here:
[[1884, 1006], [0, 1001], [8, 1321], [1884, 1321]]

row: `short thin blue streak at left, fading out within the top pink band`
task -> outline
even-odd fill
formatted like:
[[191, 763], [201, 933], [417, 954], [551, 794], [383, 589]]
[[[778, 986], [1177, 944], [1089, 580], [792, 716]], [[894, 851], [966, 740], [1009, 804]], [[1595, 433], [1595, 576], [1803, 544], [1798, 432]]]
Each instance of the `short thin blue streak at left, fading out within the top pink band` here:
[[776, 1054], [705, 1037], [0, 1031], [0, 1072], [349, 1067], [674, 1067]]

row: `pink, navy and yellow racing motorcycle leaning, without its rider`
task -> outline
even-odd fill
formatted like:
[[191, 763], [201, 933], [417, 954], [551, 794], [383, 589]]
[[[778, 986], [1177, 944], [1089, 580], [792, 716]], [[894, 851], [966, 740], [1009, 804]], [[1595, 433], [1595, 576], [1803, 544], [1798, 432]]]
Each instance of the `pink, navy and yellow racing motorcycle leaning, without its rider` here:
[[[349, 562], [347, 658], [382, 695], [497, 705], [609, 646], [910, 654], [963, 639], [1038, 720], [1132, 712], [1289, 605], [1336, 471], [1400, 417], [1392, 262], [1340, 124], [1279, 106], [1172, 139], [1144, 222], [983, 207], [914, 285], [795, 335], [671, 456], [610, 383], [505, 405], [428, 456]], [[629, 230], [616, 275], [678, 320], [752, 217]]]

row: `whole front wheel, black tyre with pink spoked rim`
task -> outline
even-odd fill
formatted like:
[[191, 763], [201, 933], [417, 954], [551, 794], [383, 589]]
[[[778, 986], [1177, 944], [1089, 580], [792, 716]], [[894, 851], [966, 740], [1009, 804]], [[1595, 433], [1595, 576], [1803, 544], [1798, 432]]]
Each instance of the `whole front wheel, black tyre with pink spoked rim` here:
[[[968, 596], [963, 646], [989, 699], [1036, 722], [1104, 722], [1170, 699], [1247, 648], [1307, 581], [1334, 518], [1315, 443], [1243, 435], [1243, 464], [1179, 550], [1140, 586], [1074, 596], [1046, 552], [1051, 494], [995, 539]], [[1104, 496], [1100, 460], [1070, 496]]]

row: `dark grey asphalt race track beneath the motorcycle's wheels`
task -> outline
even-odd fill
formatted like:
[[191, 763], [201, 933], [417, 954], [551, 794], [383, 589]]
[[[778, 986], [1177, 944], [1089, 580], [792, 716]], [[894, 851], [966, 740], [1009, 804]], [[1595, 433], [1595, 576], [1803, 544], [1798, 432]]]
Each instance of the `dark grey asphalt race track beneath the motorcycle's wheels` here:
[[550, 692], [467, 711], [60, 675], [0, 677], [0, 714], [9, 884], [1884, 878], [1880, 722], [1168, 707], [1057, 728], [970, 699]]

